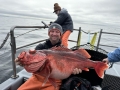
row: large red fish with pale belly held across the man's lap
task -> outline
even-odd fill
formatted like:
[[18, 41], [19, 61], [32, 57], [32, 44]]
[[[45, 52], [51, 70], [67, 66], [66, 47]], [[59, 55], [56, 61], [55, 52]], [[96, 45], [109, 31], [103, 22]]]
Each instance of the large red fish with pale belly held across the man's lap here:
[[85, 49], [72, 51], [64, 47], [23, 51], [18, 56], [26, 71], [44, 76], [43, 84], [49, 80], [55, 87], [55, 79], [69, 77], [75, 68], [86, 71], [94, 68], [97, 75], [103, 78], [108, 65], [101, 61], [92, 61], [90, 57]]

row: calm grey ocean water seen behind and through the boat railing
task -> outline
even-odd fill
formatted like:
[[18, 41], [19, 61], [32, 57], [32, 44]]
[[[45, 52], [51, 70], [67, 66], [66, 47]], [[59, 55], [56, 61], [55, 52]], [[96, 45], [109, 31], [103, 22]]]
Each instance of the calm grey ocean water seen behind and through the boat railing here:
[[[41, 21], [44, 21], [46, 24], [49, 24], [51, 20], [48, 19], [41, 19], [41, 18], [32, 18], [32, 17], [23, 17], [23, 16], [11, 16], [11, 15], [0, 15], [0, 45], [5, 40], [5, 37], [7, 33], [10, 32], [11, 27], [13, 26], [44, 26], [44, 24], [41, 23]], [[74, 22], [74, 28], [79, 29], [81, 27], [82, 30], [85, 32], [99, 32], [101, 29], [105, 32], [111, 32], [111, 33], [120, 33], [119, 27], [111, 26], [111, 25], [99, 25], [99, 24], [92, 24], [92, 23], [81, 23], [81, 22]], [[47, 39], [47, 29], [38, 29], [35, 31], [30, 32], [30, 30], [35, 29], [15, 29], [15, 37], [16, 37], [16, 46], [20, 47], [26, 44], [30, 44], [35, 41]], [[28, 33], [29, 32], [29, 33]], [[78, 32], [74, 31], [70, 38], [71, 40], [77, 40]], [[99, 36], [99, 33], [98, 33]], [[98, 39], [97, 36], [97, 39]], [[82, 38], [81, 38], [81, 44], [86, 44], [87, 42], [90, 42], [92, 39], [93, 34], [86, 34], [82, 32]], [[101, 37], [101, 44], [105, 45], [111, 45], [111, 46], [120, 46], [119, 42], [120, 35], [109, 35], [104, 34]], [[69, 43], [69, 47], [75, 46], [76, 43]], [[97, 45], [97, 41], [95, 43]], [[16, 57], [22, 50], [27, 50], [34, 48], [36, 46], [32, 45], [29, 47], [25, 47], [16, 53]], [[101, 48], [105, 49], [106, 51], [110, 52], [114, 50], [115, 48], [111, 47], [104, 47], [100, 46]], [[11, 51], [10, 51], [10, 37], [6, 41], [3, 48], [0, 49], [0, 83], [8, 79], [12, 75], [12, 62], [11, 62]], [[17, 72], [19, 72], [22, 69], [22, 67], [17, 66]]]

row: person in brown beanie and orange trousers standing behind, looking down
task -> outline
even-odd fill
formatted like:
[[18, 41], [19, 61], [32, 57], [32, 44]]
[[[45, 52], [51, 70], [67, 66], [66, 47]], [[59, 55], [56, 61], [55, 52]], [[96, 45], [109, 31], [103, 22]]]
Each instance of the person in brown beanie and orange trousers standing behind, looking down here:
[[63, 28], [63, 35], [61, 37], [62, 39], [62, 45], [68, 47], [68, 38], [73, 32], [73, 21], [66, 9], [61, 9], [58, 3], [54, 4], [54, 12], [58, 18], [54, 21], [54, 23], [58, 23]]

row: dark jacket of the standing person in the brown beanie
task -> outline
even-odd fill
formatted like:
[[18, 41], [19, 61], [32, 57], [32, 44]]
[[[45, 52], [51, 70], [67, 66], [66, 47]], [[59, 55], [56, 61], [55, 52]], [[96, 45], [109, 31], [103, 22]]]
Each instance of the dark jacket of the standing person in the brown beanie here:
[[58, 18], [54, 23], [58, 23], [62, 26], [63, 28], [63, 33], [66, 30], [70, 30], [71, 32], [73, 31], [73, 21], [66, 9], [62, 9], [60, 13], [58, 14]]

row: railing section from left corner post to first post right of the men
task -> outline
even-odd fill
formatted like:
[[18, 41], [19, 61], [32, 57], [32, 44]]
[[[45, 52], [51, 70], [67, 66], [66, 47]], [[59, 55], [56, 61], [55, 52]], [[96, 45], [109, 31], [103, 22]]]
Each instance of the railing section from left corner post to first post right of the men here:
[[[16, 50], [18, 50], [18, 49], [21, 49], [21, 48], [23, 48], [23, 47], [27, 47], [27, 46], [30, 46], [30, 45], [33, 45], [33, 44], [36, 44], [36, 43], [40, 43], [40, 42], [43, 42], [43, 41], [45, 41], [46, 39], [44, 39], [44, 40], [40, 40], [40, 41], [36, 41], [36, 42], [33, 42], [33, 43], [30, 43], [30, 44], [27, 44], [27, 45], [24, 45], [24, 46], [20, 46], [20, 47], [16, 47], [16, 39], [15, 39], [15, 36], [14, 36], [14, 30], [15, 29], [17, 29], [17, 28], [39, 28], [39, 29], [41, 29], [41, 28], [48, 28], [46, 25], [45, 26], [14, 26], [14, 27], [12, 27], [11, 29], [10, 29], [10, 46], [11, 46], [11, 55], [12, 55], [12, 66], [13, 66], [13, 75], [11, 76], [11, 78], [17, 78], [18, 77], [18, 75], [16, 74], [16, 64], [15, 64], [15, 54], [16, 54]], [[78, 33], [78, 39], [77, 39], [77, 41], [75, 41], [75, 40], [69, 40], [69, 41], [71, 41], [71, 42], [75, 42], [75, 43], [77, 43], [77, 45], [78, 45], [78, 43], [79, 43], [79, 40], [80, 40], [80, 31], [81, 31], [81, 28], [79, 28], [79, 30], [78, 29], [74, 29], [75, 31], [79, 31], [79, 33]]]

